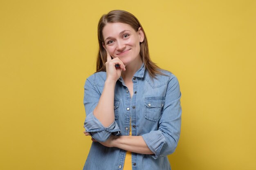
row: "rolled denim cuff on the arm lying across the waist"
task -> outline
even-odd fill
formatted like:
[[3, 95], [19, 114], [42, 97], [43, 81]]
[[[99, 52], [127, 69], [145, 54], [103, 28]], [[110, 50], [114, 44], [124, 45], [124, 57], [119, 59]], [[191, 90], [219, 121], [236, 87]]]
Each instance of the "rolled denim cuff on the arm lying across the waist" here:
[[142, 135], [148, 148], [155, 154], [150, 155], [154, 159], [157, 159], [160, 155], [163, 145], [166, 143], [166, 139], [160, 130], [153, 130], [149, 133]]

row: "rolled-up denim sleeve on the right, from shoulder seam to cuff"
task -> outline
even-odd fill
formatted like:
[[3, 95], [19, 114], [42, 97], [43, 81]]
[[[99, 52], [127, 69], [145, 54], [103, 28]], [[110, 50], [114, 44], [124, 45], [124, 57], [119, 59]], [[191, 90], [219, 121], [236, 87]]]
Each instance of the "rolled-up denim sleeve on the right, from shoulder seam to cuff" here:
[[154, 153], [154, 155], [150, 155], [154, 159], [170, 155], [177, 147], [180, 138], [182, 113], [180, 97], [179, 82], [172, 75], [166, 89], [165, 104], [159, 120], [159, 128], [142, 135], [148, 148]]

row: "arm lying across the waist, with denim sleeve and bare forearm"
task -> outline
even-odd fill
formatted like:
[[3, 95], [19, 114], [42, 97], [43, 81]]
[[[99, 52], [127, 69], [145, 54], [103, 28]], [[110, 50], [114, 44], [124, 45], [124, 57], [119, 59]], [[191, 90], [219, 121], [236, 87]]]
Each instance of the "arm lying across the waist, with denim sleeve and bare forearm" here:
[[[154, 159], [173, 153], [180, 138], [181, 106], [180, 86], [176, 77], [168, 83], [165, 106], [159, 120], [159, 129], [142, 136], [113, 136], [101, 142], [107, 147], [117, 147], [130, 152], [150, 154]], [[85, 134], [89, 135], [89, 134]], [[92, 139], [97, 141], [97, 139]]]

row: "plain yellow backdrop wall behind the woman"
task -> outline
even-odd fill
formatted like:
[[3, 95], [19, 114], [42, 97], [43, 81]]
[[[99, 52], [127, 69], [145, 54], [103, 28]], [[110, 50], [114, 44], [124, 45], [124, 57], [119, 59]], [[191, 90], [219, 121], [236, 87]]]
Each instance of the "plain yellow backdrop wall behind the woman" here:
[[182, 91], [173, 170], [256, 170], [255, 0], [0, 0], [0, 169], [81, 170], [97, 23], [123, 9]]

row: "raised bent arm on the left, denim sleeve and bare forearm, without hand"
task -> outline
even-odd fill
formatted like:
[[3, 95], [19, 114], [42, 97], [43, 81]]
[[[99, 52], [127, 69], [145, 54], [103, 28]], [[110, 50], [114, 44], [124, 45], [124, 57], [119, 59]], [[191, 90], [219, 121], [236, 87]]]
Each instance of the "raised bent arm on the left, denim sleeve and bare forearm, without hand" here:
[[115, 121], [114, 114], [114, 90], [115, 84], [105, 82], [102, 94], [97, 91], [93, 84], [96, 76], [87, 79], [84, 87], [84, 106], [86, 118], [84, 128], [86, 132], [97, 139], [106, 141], [111, 134], [118, 135], [121, 130]]

